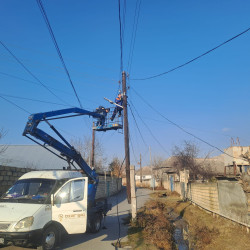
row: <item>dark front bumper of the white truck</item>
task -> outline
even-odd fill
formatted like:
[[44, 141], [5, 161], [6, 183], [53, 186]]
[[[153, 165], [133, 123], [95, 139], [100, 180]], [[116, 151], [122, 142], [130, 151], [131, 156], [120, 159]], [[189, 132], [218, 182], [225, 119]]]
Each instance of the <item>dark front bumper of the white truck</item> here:
[[28, 244], [39, 245], [42, 239], [42, 229], [29, 232], [0, 232], [0, 246], [9, 245], [25, 246]]

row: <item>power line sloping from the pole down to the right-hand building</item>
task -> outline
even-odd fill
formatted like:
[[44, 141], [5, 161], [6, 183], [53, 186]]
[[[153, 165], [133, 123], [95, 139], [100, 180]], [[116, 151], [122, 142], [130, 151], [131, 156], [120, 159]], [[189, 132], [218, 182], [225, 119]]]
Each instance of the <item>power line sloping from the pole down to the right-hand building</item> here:
[[[132, 88], [132, 87], [131, 87], [131, 88]], [[141, 100], [142, 100], [144, 103], [146, 103], [152, 110], [154, 110], [158, 115], [160, 115], [162, 118], [164, 118], [165, 120], [167, 120], [169, 123], [171, 123], [171, 124], [174, 125], [175, 127], [179, 128], [179, 129], [182, 130], [184, 133], [186, 133], [186, 134], [188, 134], [188, 135], [191, 135], [191, 136], [194, 137], [195, 139], [197, 139], [197, 140], [199, 140], [199, 141], [201, 141], [201, 142], [207, 144], [208, 146], [210, 146], [210, 147], [212, 147], [212, 148], [217, 149], [217, 150], [220, 151], [221, 153], [226, 154], [226, 155], [228, 155], [228, 156], [230, 156], [230, 157], [232, 157], [232, 158], [235, 158], [235, 157], [233, 157], [232, 155], [230, 155], [230, 154], [224, 152], [224, 151], [221, 150], [220, 148], [218, 148], [218, 147], [212, 145], [211, 143], [209, 143], [209, 142], [207, 142], [207, 141], [201, 139], [200, 137], [198, 137], [198, 136], [196, 136], [196, 135], [194, 135], [194, 134], [188, 132], [186, 129], [182, 128], [182, 127], [179, 126], [177, 123], [171, 121], [171, 120], [168, 119], [166, 116], [162, 115], [162, 114], [161, 114], [158, 110], [156, 110], [150, 103], [148, 103], [142, 96], [140, 96], [139, 93], [138, 93], [134, 88], [132, 88], [132, 89], [133, 89], [133, 91], [136, 93], [136, 95], [137, 95], [138, 97], [141, 98]], [[239, 159], [240, 159], [240, 158], [239, 158]]]

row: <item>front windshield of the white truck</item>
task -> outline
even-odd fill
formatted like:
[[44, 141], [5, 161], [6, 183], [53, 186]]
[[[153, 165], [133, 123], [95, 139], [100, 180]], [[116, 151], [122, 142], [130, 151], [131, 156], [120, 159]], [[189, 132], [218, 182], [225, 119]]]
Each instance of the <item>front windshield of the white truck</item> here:
[[19, 180], [2, 195], [1, 201], [42, 203], [49, 197], [55, 183], [49, 179]]

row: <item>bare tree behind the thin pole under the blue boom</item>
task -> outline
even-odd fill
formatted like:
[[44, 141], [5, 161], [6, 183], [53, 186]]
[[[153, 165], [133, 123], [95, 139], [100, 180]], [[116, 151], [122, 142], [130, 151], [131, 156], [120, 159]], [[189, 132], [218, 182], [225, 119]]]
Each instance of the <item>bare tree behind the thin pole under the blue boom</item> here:
[[[81, 153], [82, 158], [89, 164], [92, 150], [92, 140], [90, 137], [85, 136], [83, 139], [77, 138], [71, 140], [71, 144], [75, 149]], [[104, 157], [104, 150], [100, 141], [95, 140], [95, 169], [103, 169], [103, 165], [106, 162]]]

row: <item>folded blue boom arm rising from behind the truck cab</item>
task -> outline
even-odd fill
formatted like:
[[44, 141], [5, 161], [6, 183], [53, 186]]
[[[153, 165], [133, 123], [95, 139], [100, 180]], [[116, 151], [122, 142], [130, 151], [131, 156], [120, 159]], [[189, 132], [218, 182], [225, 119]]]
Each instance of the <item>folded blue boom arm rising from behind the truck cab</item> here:
[[[71, 114], [71, 115], [62, 116], [66, 114]], [[36, 139], [42, 141], [44, 145], [49, 145], [52, 148], [56, 149], [57, 151], [60, 152], [61, 156], [57, 154], [56, 155], [64, 160], [65, 158], [63, 157], [66, 157], [66, 160], [68, 161], [69, 164], [76, 162], [76, 164], [84, 171], [84, 173], [90, 179], [89, 188], [88, 188], [89, 189], [88, 199], [89, 199], [89, 202], [94, 202], [96, 189], [98, 185], [98, 175], [96, 174], [95, 170], [91, 169], [89, 165], [84, 161], [81, 154], [77, 152], [76, 149], [73, 146], [71, 146], [67, 142], [67, 140], [54, 128], [54, 126], [52, 126], [48, 122], [49, 120], [53, 120], [53, 119], [69, 118], [69, 117], [79, 116], [79, 115], [89, 115], [99, 120], [102, 120], [104, 118], [103, 115], [97, 112], [91, 112], [91, 111], [87, 111], [87, 110], [80, 109], [80, 108], [69, 108], [69, 109], [55, 110], [51, 112], [32, 114], [28, 118], [28, 122], [24, 129], [23, 135], [33, 140], [34, 142], [40, 144], [39, 142], [37, 142], [36, 140], [28, 136], [28, 135], [31, 135], [35, 137]], [[55, 138], [53, 138], [46, 132], [37, 128], [39, 123], [42, 121], [45, 121], [50, 126], [50, 128], [61, 138], [61, 140], [64, 143], [56, 140]], [[54, 153], [53, 151], [50, 151], [50, 152]]]

